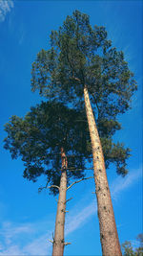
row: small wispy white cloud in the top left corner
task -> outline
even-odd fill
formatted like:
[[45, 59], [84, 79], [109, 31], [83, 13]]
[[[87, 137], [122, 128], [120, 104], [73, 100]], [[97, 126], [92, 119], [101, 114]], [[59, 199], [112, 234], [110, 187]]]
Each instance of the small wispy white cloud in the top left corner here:
[[0, 22], [5, 20], [6, 15], [11, 11], [13, 6], [12, 0], [0, 0]]

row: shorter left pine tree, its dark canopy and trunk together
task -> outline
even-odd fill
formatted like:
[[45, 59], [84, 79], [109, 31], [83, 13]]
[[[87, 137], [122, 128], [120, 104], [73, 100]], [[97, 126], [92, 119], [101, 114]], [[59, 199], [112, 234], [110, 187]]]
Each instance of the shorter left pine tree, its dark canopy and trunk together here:
[[[87, 179], [85, 159], [91, 155], [91, 149], [87, 124], [82, 119], [85, 119], [83, 112], [62, 104], [42, 103], [31, 107], [24, 119], [12, 116], [5, 126], [8, 136], [4, 147], [12, 158], [22, 157], [24, 177], [35, 182], [38, 176], [46, 175], [45, 188], [50, 185], [51, 194], [59, 193], [51, 241], [53, 256], [62, 256], [64, 246], [69, 244], [64, 240], [67, 190]], [[78, 180], [72, 182], [73, 179]]]

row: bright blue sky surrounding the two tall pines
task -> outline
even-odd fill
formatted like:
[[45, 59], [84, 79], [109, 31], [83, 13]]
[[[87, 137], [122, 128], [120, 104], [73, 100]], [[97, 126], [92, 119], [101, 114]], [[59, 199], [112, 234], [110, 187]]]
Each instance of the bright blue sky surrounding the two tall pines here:
[[[3, 1], [0, 0], [1, 172], [0, 255], [51, 255], [56, 200], [48, 191], [38, 194], [43, 179], [22, 177], [23, 163], [3, 149], [4, 124], [11, 115], [24, 116], [40, 103], [31, 93], [31, 63], [49, 48], [49, 35], [74, 10], [90, 15], [92, 25], [105, 26], [112, 44], [122, 50], [138, 83], [133, 109], [119, 117], [122, 130], [114, 140], [132, 149], [129, 175], [108, 178], [120, 243], [142, 232], [142, 2], [141, 1]], [[89, 175], [92, 172], [89, 171]], [[67, 198], [65, 255], [101, 255], [93, 180], [72, 187]]]

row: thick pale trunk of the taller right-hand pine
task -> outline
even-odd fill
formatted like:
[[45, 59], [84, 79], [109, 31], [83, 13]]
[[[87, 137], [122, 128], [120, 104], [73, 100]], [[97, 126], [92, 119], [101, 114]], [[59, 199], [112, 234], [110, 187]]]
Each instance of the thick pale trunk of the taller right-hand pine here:
[[98, 131], [95, 125], [87, 87], [84, 88], [86, 113], [92, 141], [92, 158], [97, 197], [98, 218], [100, 225], [100, 241], [104, 256], [122, 255], [114, 220], [112, 198], [106, 175], [104, 156]]

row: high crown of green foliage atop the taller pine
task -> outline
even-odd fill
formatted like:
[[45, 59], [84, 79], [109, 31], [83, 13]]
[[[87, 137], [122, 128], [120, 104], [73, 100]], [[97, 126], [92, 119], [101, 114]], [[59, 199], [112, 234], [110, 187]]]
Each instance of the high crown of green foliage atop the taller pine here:
[[96, 119], [108, 120], [129, 109], [136, 90], [123, 52], [112, 47], [105, 28], [92, 28], [89, 16], [75, 11], [58, 31], [51, 32], [51, 49], [37, 54], [31, 69], [31, 90], [81, 107], [84, 86]]

